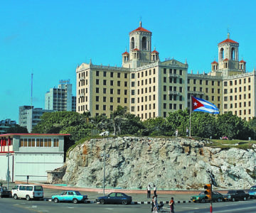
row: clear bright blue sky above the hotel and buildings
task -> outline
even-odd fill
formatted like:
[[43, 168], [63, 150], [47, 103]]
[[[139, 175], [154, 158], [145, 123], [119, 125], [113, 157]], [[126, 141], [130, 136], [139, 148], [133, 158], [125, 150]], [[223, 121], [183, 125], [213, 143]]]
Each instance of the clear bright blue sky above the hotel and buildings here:
[[247, 72], [256, 65], [256, 1], [113, 1], [8, 0], [0, 6], [0, 120], [18, 123], [18, 107], [35, 108], [45, 94], [70, 80], [75, 95], [75, 68], [82, 62], [122, 65], [129, 32], [152, 32], [152, 50], [160, 60], [188, 62], [188, 72], [210, 72], [218, 60], [218, 43], [239, 43], [239, 60]]

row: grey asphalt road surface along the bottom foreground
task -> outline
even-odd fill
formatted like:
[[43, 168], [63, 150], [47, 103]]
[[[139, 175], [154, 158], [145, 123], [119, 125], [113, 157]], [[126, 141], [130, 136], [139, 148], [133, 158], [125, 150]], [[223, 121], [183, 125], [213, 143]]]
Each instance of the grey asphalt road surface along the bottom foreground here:
[[[1, 213], [31, 213], [31, 212], [54, 212], [54, 213], [119, 213], [119, 212], [151, 212], [151, 205], [149, 204], [131, 204], [127, 206], [122, 205], [101, 205], [101, 204], [73, 204], [73, 203], [53, 203], [47, 201], [26, 201], [14, 200], [12, 198], [0, 199]], [[164, 205], [164, 212], [169, 212], [168, 205]], [[210, 212], [210, 204], [205, 203], [184, 203], [176, 204], [175, 212], [179, 213], [208, 213]], [[227, 213], [252, 213], [255, 212], [255, 200], [247, 200], [245, 202], [220, 202], [213, 203], [213, 212], [227, 212]]]

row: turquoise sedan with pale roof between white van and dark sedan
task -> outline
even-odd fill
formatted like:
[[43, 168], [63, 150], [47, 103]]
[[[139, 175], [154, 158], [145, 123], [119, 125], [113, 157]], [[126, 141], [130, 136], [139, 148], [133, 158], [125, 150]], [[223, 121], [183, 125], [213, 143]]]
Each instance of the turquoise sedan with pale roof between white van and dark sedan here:
[[63, 191], [60, 195], [52, 196], [52, 201], [55, 203], [64, 201], [77, 204], [78, 202], [85, 202], [87, 199], [87, 195], [81, 195], [78, 191]]

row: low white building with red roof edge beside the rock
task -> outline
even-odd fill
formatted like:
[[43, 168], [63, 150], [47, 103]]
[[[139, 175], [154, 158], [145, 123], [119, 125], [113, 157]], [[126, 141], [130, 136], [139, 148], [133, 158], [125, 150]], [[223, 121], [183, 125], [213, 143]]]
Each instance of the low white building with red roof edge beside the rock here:
[[[63, 166], [64, 143], [69, 134], [1, 134], [0, 180], [47, 180], [46, 170]], [[9, 155], [9, 159], [8, 159]], [[8, 163], [9, 162], [9, 163]]]

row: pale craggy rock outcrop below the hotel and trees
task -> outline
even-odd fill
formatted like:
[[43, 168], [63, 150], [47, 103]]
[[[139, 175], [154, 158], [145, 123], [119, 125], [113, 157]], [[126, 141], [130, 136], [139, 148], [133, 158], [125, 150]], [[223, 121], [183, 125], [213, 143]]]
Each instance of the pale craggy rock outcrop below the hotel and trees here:
[[207, 141], [188, 138], [123, 137], [91, 139], [68, 153], [63, 182], [102, 187], [103, 157], [106, 187], [202, 189], [212, 180], [218, 188], [255, 185], [254, 150], [209, 148]]

